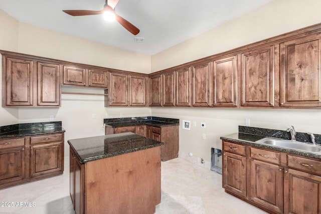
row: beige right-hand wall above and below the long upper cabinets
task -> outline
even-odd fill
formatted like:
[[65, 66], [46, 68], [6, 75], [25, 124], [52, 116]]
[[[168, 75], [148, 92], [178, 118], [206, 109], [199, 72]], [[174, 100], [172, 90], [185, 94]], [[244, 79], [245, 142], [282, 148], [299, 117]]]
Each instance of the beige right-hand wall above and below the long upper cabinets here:
[[[321, 1], [275, 0], [202, 35], [153, 55], [151, 71], [159, 71], [213, 54], [225, 52], [289, 31], [321, 23]], [[196, 121], [191, 130], [180, 128], [180, 152], [210, 161], [211, 147], [221, 148], [220, 136], [237, 132], [251, 119], [251, 126], [321, 134], [320, 110], [260, 110], [212, 108], [152, 108], [154, 116]], [[206, 122], [206, 128], [200, 123]], [[206, 139], [202, 139], [202, 134]], [[193, 161], [192, 161], [193, 162]]]

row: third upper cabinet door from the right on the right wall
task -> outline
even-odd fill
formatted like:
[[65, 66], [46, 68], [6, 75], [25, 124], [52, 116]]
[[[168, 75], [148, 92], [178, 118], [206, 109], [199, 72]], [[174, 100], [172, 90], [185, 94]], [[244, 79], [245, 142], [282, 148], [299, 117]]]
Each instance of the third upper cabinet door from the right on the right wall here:
[[213, 106], [237, 106], [237, 56], [213, 62]]

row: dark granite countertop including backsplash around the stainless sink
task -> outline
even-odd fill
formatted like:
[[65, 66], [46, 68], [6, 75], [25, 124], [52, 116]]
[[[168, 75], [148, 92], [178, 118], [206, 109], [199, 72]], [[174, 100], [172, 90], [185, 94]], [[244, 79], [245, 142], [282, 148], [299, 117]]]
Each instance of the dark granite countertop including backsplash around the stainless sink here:
[[[271, 145], [255, 142], [255, 141], [260, 140], [264, 137], [275, 137], [275, 138], [280, 138], [280, 139], [288, 139], [288, 136], [284, 136], [284, 138], [277, 137], [277, 136], [280, 136], [280, 134], [281, 135], [284, 134], [284, 133], [281, 133], [282, 132], [281, 130], [273, 130], [273, 129], [264, 130], [262, 128], [255, 128], [255, 127], [251, 127], [251, 130], [250, 131], [249, 130], [250, 130], [249, 128], [245, 128], [244, 126], [239, 126], [239, 131], [246, 131], [249, 133], [237, 132], [237, 133], [223, 136], [220, 139], [228, 140], [231, 142], [240, 143], [240, 144], [244, 144], [244, 145], [256, 146], [259, 148], [266, 148], [266, 149], [271, 149], [271, 150], [275, 150], [275, 151], [286, 152], [286, 153], [290, 153], [290, 154], [296, 154], [296, 155], [302, 155], [302, 156], [306, 156], [306, 157], [313, 157], [313, 158], [321, 159], [321, 154], [305, 152], [305, 151], [295, 150], [295, 149], [281, 148], [281, 147], [276, 147], [276, 146], [271, 146]], [[255, 134], [253, 134], [253, 133], [255, 133]], [[286, 133], [286, 135], [287, 135], [287, 133]], [[319, 138], [319, 135], [316, 135], [316, 136]], [[297, 140], [302, 141], [302, 143], [303, 142], [309, 143], [308, 141], [303, 141], [300, 138]], [[317, 144], [317, 145], [319, 146], [319, 144]]]

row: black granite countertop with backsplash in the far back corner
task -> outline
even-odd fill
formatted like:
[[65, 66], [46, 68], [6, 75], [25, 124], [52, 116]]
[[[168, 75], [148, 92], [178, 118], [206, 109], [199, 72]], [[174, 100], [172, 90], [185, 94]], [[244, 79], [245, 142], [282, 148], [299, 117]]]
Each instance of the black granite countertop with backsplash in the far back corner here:
[[178, 126], [179, 119], [164, 117], [125, 117], [104, 119], [104, 124], [111, 128], [136, 125], [151, 125], [157, 127]]

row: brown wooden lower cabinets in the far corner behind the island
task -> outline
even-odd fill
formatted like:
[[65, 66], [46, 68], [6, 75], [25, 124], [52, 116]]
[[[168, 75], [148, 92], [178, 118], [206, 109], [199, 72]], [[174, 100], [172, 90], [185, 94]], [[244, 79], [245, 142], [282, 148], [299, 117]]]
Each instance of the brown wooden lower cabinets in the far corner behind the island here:
[[171, 160], [179, 156], [179, 126], [156, 127], [150, 125], [105, 127], [105, 134], [133, 132], [165, 143], [161, 146], [161, 159]]

